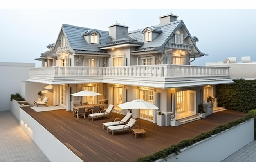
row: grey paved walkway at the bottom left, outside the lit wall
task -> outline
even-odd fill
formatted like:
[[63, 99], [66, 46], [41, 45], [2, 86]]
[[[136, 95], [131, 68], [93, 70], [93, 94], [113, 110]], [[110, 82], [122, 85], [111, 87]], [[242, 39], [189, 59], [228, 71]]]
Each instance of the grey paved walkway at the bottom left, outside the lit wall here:
[[50, 162], [11, 111], [0, 111], [0, 162]]

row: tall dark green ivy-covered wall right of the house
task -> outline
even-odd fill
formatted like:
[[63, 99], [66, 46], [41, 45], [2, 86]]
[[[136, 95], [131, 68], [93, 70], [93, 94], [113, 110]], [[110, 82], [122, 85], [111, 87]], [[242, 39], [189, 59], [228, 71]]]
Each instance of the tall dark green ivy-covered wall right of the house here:
[[246, 113], [256, 109], [256, 80], [234, 81], [235, 84], [216, 85], [218, 106]]

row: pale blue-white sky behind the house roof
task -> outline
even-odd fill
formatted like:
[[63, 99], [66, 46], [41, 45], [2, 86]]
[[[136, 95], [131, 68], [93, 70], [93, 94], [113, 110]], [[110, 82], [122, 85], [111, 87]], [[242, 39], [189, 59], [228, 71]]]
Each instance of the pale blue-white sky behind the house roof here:
[[39, 67], [35, 58], [56, 42], [62, 24], [108, 31], [108, 26], [117, 22], [133, 31], [159, 24], [158, 17], [170, 12], [184, 21], [191, 36], [199, 39], [198, 49], [208, 54], [195, 58], [191, 65], [204, 66], [228, 57], [241, 62], [242, 56], [256, 61], [256, 6], [247, 1], [207, 1], [204, 6], [197, 0], [9, 0], [0, 7], [0, 62], [35, 63]]

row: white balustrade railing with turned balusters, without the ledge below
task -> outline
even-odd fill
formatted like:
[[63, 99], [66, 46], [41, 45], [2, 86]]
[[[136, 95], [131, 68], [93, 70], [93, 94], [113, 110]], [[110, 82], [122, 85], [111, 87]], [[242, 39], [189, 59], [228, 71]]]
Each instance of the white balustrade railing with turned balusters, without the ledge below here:
[[122, 67], [36, 67], [29, 68], [29, 76], [140, 76], [140, 77], [193, 77], [227, 76], [229, 67], [191, 65], [148, 65]]

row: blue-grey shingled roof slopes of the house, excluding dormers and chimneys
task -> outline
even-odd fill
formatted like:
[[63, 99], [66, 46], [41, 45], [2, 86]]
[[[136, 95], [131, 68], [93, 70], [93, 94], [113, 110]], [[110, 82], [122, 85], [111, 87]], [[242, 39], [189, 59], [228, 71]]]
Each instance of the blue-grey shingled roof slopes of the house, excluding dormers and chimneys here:
[[[74, 51], [83, 51], [81, 53], [87, 53], [88, 51], [89, 52], [94, 51], [97, 53], [106, 53], [106, 51], [101, 50], [100, 47], [106, 47], [110, 45], [123, 44], [123, 43], [133, 43], [138, 45], [142, 44], [141, 46], [136, 48], [135, 51], [137, 52], [153, 51], [153, 50], [157, 51], [159, 49], [162, 49], [162, 47], [165, 46], [165, 43], [168, 42], [168, 40], [173, 36], [174, 33], [176, 33], [177, 29], [179, 29], [181, 26], [184, 26], [190, 38], [193, 39], [182, 20], [177, 20], [164, 25], [162, 24], [162, 25], [148, 26], [150, 28], [153, 28], [154, 31], [156, 31], [159, 34], [152, 42], [144, 42], [144, 43], [143, 43], [143, 34], [141, 32], [147, 27], [143, 29], [135, 30], [135, 31], [130, 31], [128, 32], [128, 36], [130, 37], [129, 39], [124, 38], [120, 40], [112, 40], [109, 36], [108, 31], [101, 31], [101, 30], [90, 29], [85, 27], [77, 27], [77, 26], [72, 26], [68, 24], [63, 24], [62, 29], [66, 33], [68, 42], [70, 43], [70, 47]], [[86, 42], [85, 38], [83, 37], [83, 34], [86, 34], [90, 31], [98, 31], [101, 34], [101, 36], [99, 37], [100, 44], [88, 44], [88, 42]], [[195, 43], [194, 43], [194, 46], [198, 50], [200, 55], [205, 55], [204, 53], [199, 51]]]

